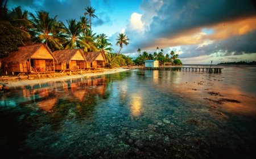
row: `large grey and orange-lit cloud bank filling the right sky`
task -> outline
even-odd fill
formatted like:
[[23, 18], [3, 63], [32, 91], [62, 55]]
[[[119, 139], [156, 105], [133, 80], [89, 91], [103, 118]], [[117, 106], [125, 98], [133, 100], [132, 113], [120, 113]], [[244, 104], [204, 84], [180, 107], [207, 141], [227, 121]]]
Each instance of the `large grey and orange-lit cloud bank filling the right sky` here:
[[148, 0], [142, 1], [140, 8], [143, 13], [138, 24], [143, 28], [140, 25], [138, 32], [131, 25], [131, 16], [125, 28], [130, 45], [123, 53], [135, 53], [138, 48], [153, 53], [156, 47], [170, 50], [174, 46], [181, 46], [183, 58], [255, 53], [246, 41], [253, 42], [251, 34], [256, 30], [256, 10], [251, 1]]

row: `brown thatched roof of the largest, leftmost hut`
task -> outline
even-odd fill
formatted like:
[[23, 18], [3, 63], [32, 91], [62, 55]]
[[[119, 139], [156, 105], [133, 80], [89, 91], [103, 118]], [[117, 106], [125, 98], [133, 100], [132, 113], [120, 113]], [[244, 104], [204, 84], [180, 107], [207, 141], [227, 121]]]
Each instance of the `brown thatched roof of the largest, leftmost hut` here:
[[55, 59], [55, 56], [52, 54], [52, 51], [46, 46], [46, 44], [39, 43], [33, 45], [20, 46], [18, 51], [11, 52], [7, 57], [3, 58], [5, 63], [22, 63], [30, 59], [30, 57], [41, 48], [41, 46], [47, 49], [47, 51], [52, 55]]

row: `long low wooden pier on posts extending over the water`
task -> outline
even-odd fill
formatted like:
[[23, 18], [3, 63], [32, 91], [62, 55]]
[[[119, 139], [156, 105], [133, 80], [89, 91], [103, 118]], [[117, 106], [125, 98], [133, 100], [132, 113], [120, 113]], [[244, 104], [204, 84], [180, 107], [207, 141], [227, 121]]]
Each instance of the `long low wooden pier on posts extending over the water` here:
[[192, 71], [192, 72], [209, 72], [209, 73], [221, 73], [223, 68], [213, 67], [137, 67], [144, 70], [169, 70], [169, 71]]

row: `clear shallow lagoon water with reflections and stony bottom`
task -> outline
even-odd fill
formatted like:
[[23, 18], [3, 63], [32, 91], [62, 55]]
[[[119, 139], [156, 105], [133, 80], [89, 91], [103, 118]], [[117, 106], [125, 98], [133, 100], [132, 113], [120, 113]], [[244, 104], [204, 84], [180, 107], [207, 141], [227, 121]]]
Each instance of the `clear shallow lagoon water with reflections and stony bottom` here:
[[224, 67], [220, 74], [132, 70], [12, 89], [1, 94], [1, 154], [254, 158], [256, 67]]

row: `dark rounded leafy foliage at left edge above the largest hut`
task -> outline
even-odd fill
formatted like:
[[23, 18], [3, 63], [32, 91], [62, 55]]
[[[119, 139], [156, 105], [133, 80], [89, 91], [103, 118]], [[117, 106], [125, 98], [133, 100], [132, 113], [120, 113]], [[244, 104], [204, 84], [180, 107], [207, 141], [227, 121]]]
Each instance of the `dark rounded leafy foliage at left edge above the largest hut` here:
[[22, 37], [18, 32], [9, 22], [0, 22], [0, 58], [18, 50], [19, 45], [22, 45]]

